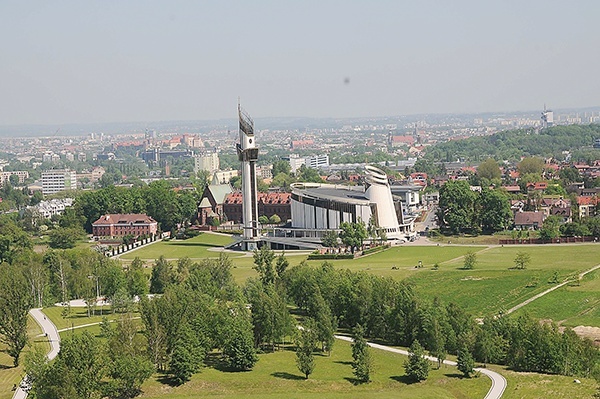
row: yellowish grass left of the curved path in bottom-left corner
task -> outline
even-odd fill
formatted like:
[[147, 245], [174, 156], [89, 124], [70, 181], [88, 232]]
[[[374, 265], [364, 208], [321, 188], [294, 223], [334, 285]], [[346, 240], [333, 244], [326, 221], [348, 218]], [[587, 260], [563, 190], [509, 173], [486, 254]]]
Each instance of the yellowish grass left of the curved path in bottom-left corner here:
[[23, 368], [24, 358], [31, 347], [41, 346], [45, 351], [50, 350], [50, 344], [45, 337], [39, 337], [42, 333], [40, 326], [30, 316], [27, 324], [27, 335], [29, 337], [29, 344], [21, 352], [20, 365], [19, 367], [13, 367], [13, 359], [6, 353], [6, 346], [0, 343], [0, 399], [12, 398], [13, 391], [12, 387], [14, 384], [19, 384], [25, 375]]

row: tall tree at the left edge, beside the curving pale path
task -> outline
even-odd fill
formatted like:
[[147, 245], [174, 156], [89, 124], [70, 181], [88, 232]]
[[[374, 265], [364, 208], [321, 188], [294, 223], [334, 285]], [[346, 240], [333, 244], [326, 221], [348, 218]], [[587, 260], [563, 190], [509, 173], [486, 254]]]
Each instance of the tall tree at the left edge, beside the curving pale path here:
[[0, 264], [0, 342], [19, 365], [21, 351], [27, 344], [27, 315], [32, 305], [31, 290], [22, 270]]

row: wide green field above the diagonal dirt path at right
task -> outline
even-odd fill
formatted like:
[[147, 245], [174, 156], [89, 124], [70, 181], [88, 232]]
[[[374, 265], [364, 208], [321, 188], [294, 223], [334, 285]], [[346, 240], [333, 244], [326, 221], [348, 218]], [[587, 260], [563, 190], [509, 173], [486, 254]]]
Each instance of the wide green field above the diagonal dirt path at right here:
[[[531, 256], [525, 270], [515, 270], [517, 252]], [[590, 269], [600, 262], [600, 246], [505, 246], [491, 247], [477, 253], [473, 270], [462, 270], [463, 260], [441, 263], [437, 271], [430, 268], [414, 274], [408, 281], [424, 297], [440, 297], [456, 302], [477, 316], [495, 314], [550, 287], [554, 273], [560, 282]], [[552, 294], [549, 294], [552, 295]], [[523, 309], [528, 310], [529, 306]], [[531, 312], [538, 317], [538, 314]], [[600, 325], [600, 320], [596, 320]]]

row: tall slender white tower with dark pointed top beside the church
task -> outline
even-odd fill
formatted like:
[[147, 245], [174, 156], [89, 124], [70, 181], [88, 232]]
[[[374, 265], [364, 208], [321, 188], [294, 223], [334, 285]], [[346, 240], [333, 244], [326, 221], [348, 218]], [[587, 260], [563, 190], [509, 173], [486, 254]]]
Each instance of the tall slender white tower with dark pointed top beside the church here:
[[258, 147], [254, 137], [254, 121], [238, 103], [240, 142], [236, 145], [238, 159], [242, 163], [242, 216], [245, 249], [256, 248], [252, 240], [258, 236], [258, 204], [256, 196], [256, 160]]

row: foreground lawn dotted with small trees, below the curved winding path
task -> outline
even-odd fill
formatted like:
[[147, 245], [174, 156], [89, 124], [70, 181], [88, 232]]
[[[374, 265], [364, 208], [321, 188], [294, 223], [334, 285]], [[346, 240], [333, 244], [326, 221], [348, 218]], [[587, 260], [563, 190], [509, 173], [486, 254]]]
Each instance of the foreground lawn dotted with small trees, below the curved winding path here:
[[305, 380], [296, 368], [295, 353], [262, 354], [252, 371], [227, 372], [207, 367], [182, 386], [160, 376], [146, 382], [142, 398], [483, 398], [491, 386], [486, 377], [463, 379], [456, 368], [432, 370], [425, 382], [404, 377], [405, 356], [372, 349], [373, 382], [354, 383], [350, 344], [336, 341], [330, 357], [316, 356], [314, 373]]

